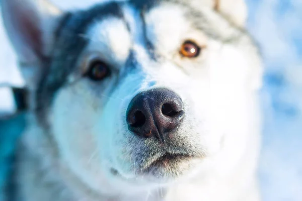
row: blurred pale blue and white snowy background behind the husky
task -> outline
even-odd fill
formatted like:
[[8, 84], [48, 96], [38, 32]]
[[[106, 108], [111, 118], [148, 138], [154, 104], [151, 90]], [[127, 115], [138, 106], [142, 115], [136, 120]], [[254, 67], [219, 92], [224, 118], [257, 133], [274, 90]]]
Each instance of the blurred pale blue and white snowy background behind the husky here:
[[[54, 0], [62, 8], [86, 7], [96, 1]], [[261, 46], [266, 67], [262, 90], [264, 130], [259, 171], [263, 200], [301, 201], [302, 0], [246, 2], [250, 13], [247, 26]], [[16, 86], [24, 83], [1, 24], [0, 44], [1, 115], [15, 109], [11, 91], [1, 87], [3, 83]]]

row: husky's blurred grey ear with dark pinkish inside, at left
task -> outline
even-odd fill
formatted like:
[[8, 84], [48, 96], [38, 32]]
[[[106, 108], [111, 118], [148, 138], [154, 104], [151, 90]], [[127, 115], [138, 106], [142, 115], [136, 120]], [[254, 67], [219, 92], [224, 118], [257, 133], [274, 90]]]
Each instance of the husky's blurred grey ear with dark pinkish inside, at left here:
[[28, 87], [35, 87], [62, 12], [46, 0], [3, 0], [3, 22]]

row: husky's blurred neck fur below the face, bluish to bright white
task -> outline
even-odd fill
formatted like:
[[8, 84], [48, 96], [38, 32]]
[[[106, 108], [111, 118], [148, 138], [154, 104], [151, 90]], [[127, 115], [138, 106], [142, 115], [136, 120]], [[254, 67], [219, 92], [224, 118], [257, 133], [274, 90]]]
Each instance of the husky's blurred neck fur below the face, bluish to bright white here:
[[[259, 200], [256, 164], [251, 165], [248, 161], [250, 155], [257, 154], [257, 151], [249, 148], [246, 157], [227, 176], [218, 176], [217, 172], [213, 172], [208, 178], [197, 176], [188, 183], [175, 183], [153, 192], [146, 189], [131, 197], [118, 192], [114, 196], [99, 194], [83, 184], [58, 160], [56, 146], [34, 119], [29, 115], [29, 127], [16, 153], [14, 173], [18, 183], [15, 183], [14, 196], [17, 200]], [[250, 140], [252, 143], [258, 139], [253, 137]]]

